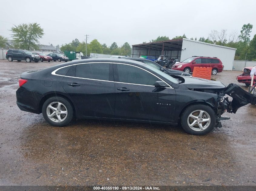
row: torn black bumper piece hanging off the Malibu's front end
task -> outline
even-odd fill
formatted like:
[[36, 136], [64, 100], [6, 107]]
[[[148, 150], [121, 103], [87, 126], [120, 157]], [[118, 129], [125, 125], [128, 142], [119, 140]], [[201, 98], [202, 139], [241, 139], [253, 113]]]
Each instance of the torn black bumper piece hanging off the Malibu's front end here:
[[242, 88], [240, 88], [237, 84], [229, 84], [224, 89], [224, 94], [227, 94], [233, 98], [231, 101], [231, 113], [236, 113], [236, 111], [248, 103], [256, 104], [256, 96], [251, 94]]

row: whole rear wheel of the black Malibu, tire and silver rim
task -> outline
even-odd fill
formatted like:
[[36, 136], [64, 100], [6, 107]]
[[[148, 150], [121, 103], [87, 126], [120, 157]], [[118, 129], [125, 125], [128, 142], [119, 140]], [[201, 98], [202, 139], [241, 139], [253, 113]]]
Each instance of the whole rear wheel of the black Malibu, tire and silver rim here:
[[[56, 110], [54, 110], [56, 108]], [[67, 112], [61, 114], [59, 111]], [[73, 107], [71, 103], [63, 97], [50, 97], [42, 107], [45, 120], [52, 126], [62, 127], [68, 125], [73, 118]], [[58, 115], [60, 114], [60, 115]]]

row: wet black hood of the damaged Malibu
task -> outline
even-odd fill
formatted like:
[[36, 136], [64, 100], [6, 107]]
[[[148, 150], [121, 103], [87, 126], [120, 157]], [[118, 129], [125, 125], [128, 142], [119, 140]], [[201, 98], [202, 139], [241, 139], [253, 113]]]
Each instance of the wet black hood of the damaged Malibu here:
[[195, 78], [192, 76], [182, 76], [182, 78], [184, 78], [185, 80], [185, 82], [182, 84], [185, 85], [187, 88], [221, 89], [226, 87], [220, 81], [206, 80], [203, 78]]

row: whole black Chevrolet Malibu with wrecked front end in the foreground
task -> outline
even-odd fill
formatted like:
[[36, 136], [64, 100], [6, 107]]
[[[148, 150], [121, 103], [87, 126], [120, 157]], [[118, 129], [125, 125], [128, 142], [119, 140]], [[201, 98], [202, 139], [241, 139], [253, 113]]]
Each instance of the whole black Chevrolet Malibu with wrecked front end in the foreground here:
[[210, 132], [221, 125], [225, 111], [235, 113], [256, 100], [234, 84], [179, 79], [133, 60], [74, 60], [23, 73], [16, 98], [21, 110], [43, 113], [53, 126], [68, 125], [74, 118], [169, 125], [180, 121], [193, 135]]

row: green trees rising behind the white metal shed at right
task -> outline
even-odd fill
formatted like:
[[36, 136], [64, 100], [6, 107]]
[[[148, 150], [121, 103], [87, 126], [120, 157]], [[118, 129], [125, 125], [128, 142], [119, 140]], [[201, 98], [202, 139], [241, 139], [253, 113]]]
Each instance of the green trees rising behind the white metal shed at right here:
[[[231, 33], [227, 33], [226, 29], [222, 29], [221, 31], [211, 30], [211, 33], [207, 38], [197, 37], [190, 38], [191, 40], [198, 40], [205, 43], [211, 43], [221, 46], [228, 46], [231, 48], [236, 48], [235, 60], [249, 60], [256, 61], [256, 34], [253, 39], [250, 40], [251, 30], [253, 25], [248, 23], [242, 26], [240, 34], [237, 30], [232, 31]], [[182, 36], [173, 37], [173, 39], [187, 38], [185, 34]], [[158, 42], [163, 40], [170, 40], [168, 36], [158, 36], [156, 39], [150, 40], [150, 42]], [[146, 43], [146, 42], [143, 42]]]

